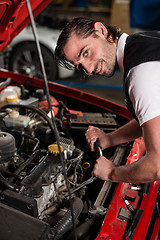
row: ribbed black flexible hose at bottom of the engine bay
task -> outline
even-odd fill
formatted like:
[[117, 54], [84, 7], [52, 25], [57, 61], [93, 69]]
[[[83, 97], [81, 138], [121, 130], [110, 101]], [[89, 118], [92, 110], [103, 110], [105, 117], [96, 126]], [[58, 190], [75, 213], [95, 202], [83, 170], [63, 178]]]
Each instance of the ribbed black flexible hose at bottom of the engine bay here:
[[[72, 208], [74, 218], [78, 218], [83, 209], [83, 202], [80, 198], [73, 198]], [[72, 216], [71, 210], [69, 209], [62, 219], [60, 219], [57, 224], [52, 228], [53, 238], [52, 240], [60, 239], [66, 232], [72, 228]]]

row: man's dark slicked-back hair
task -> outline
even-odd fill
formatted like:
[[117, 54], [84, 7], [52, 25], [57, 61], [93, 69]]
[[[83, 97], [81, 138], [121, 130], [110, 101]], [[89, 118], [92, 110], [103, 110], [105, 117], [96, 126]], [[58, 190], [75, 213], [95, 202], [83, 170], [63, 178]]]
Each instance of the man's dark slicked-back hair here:
[[[64, 47], [73, 32], [83, 38], [87, 38], [92, 34], [93, 37], [97, 37], [97, 35], [94, 34], [96, 32], [94, 29], [94, 24], [96, 22], [96, 20], [90, 18], [78, 17], [74, 18], [65, 26], [58, 38], [57, 46], [55, 49], [55, 58], [60, 65], [65, 66], [68, 69], [73, 68], [73, 66], [71, 67], [71, 64], [65, 58]], [[107, 39], [109, 36], [112, 36], [113, 40], [115, 41], [117, 37], [120, 37], [120, 29], [108, 25], [105, 27], [108, 30]]]

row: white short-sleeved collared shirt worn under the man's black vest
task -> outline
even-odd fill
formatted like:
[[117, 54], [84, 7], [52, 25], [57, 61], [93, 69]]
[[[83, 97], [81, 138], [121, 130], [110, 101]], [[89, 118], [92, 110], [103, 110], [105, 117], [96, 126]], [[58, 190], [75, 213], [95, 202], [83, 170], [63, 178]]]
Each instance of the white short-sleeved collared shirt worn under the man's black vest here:
[[[122, 62], [127, 34], [122, 34], [121, 37], [117, 48], [117, 61], [123, 73]], [[132, 68], [128, 75], [129, 96], [142, 125], [160, 115], [160, 61], [142, 63]]]

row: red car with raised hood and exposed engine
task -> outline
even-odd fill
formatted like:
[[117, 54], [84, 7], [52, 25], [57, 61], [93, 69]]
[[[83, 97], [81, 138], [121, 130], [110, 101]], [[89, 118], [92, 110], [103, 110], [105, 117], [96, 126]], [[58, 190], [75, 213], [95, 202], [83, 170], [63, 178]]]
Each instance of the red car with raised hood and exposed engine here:
[[[30, 22], [27, 2], [0, 1], [1, 51]], [[31, 1], [34, 17], [49, 2]], [[0, 107], [1, 240], [158, 239], [159, 182], [91, 177], [99, 153], [84, 133], [89, 125], [122, 126], [131, 119], [125, 107], [3, 69]], [[144, 153], [142, 138], [103, 150], [118, 165]]]

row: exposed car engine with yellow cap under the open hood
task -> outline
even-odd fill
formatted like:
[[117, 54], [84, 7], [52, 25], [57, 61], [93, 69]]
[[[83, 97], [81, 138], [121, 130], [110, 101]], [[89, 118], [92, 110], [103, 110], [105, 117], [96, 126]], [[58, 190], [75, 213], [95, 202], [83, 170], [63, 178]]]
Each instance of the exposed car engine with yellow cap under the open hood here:
[[[18, 101], [1, 101], [0, 202], [6, 211], [14, 209], [15, 225], [21, 217], [25, 224], [39, 224], [32, 233], [28, 228], [28, 239], [74, 239], [72, 217], [78, 239], [95, 239], [116, 184], [91, 178], [98, 151], [90, 151], [85, 131], [89, 125], [113, 131], [120, 124], [116, 114], [83, 109], [51, 95], [53, 122], [43, 89], [15, 88]], [[103, 154], [121, 164], [130, 148], [128, 143]]]

